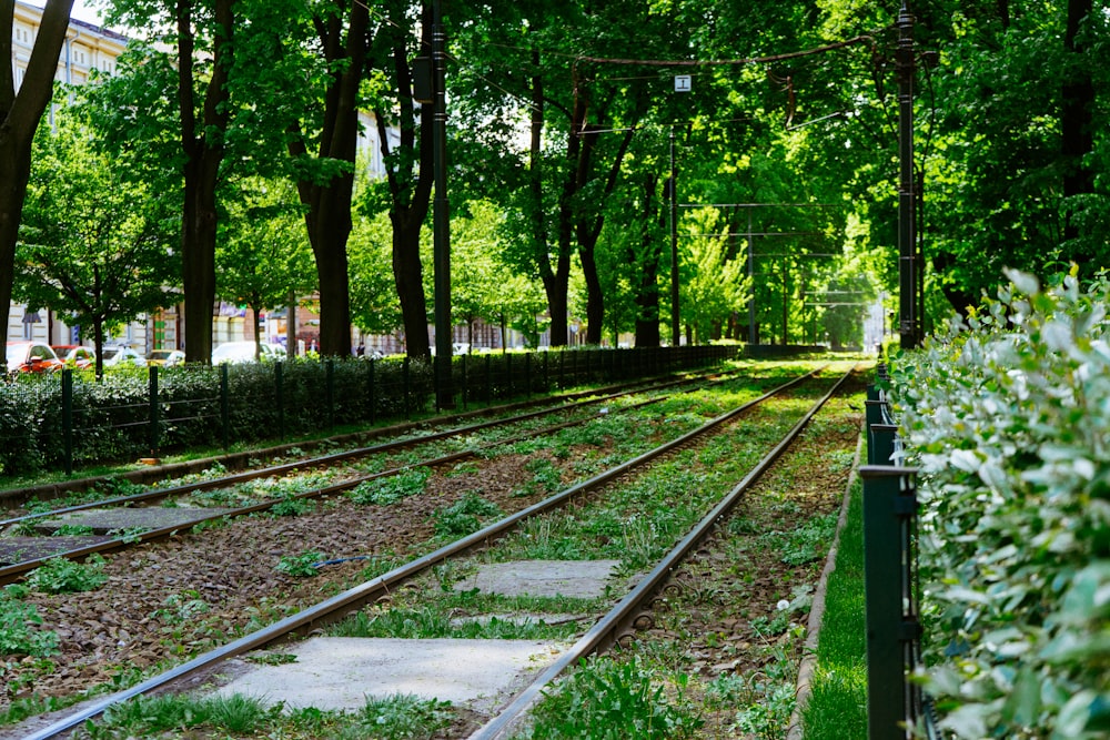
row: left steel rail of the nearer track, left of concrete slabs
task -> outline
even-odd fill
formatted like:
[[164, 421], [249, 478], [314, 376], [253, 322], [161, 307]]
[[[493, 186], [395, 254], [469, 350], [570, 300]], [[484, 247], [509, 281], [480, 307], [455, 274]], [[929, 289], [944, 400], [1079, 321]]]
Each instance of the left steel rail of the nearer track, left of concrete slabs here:
[[[696, 439], [697, 437], [707, 434], [722, 426], [726, 422], [735, 418], [736, 416], [743, 414], [749, 408], [761, 404], [768, 398], [789, 389], [804, 381], [813, 377], [818, 369], [811, 371], [796, 377], [787, 383], [784, 383], [771, 391], [763, 394], [761, 396], [748, 401], [736, 408], [728, 410], [713, 419], [706, 422], [704, 425], [697, 429], [693, 429], [670, 442], [667, 442], [658, 447], [650, 449], [630, 460], [626, 460], [620, 465], [609, 468], [588, 480], [578, 483], [569, 488], [566, 488], [542, 501], [533, 504], [532, 506], [517, 511], [516, 514], [509, 515], [500, 521], [484, 527], [483, 529], [463, 537], [450, 545], [440, 547], [432, 553], [421, 556], [410, 562], [402, 565], [386, 574], [377, 576], [371, 580], [367, 580], [359, 586], [347, 589], [342, 594], [337, 594], [320, 604], [316, 604], [307, 609], [304, 609], [295, 615], [291, 615], [273, 625], [264, 627], [255, 632], [241, 637], [228, 645], [221, 646], [205, 653], [202, 653], [195, 658], [192, 658], [184, 663], [170, 669], [169, 671], [161, 673], [159, 676], [152, 677], [142, 681], [130, 689], [124, 689], [117, 693], [113, 693], [103, 699], [90, 702], [85, 704], [82, 709], [77, 712], [63, 717], [62, 719], [53, 722], [52, 724], [41, 728], [38, 731], [27, 736], [23, 740], [50, 740], [51, 738], [58, 738], [67, 732], [77, 729], [84, 722], [95, 719], [100, 714], [104, 713], [110, 707], [132, 699], [134, 697], [152, 692], [159, 689], [164, 689], [175, 681], [180, 681], [183, 678], [196, 673], [202, 670], [212, 668], [213, 666], [234, 658], [235, 656], [242, 655], [250, 650], [261, 648], [263, 646], [278, 642], [290, 635], [293, 633], [304, 633], [312, 630], [317, 625], [329, 624], [345, 617], [353, 608], [357, 609], [366, 604], [389, 594], [396, 585], [402, 581], [408, 580], [414, 576], [432, 568], [433, 566], [446, 560], [447, 558], [464, 554], [471, 549], [481, 547], [488, 540], [498, 537], [505, 531], [512, 529], [521, 521], [528, 519], [529, 517], [543, 514], [545, 511], [558, 508], [572, 499], [581, 496], [582, 494], [599, 488], [601, 486], [609, 483], [610, 480], [628, 473], [629, 470], [639, 467], [666, 453], [672, 452], [678, 447], [686, 445], [687, 443]], [[842, 382], [842, 381], [841, 381]], [[624, 601], [622, 601], [623, 604]], [[593, 633], [595, 630], [591, 630]]]

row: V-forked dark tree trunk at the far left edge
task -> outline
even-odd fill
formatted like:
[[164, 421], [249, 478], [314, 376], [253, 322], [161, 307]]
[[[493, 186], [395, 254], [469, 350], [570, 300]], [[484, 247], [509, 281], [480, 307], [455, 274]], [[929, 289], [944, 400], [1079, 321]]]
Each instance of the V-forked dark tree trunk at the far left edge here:
[[31, 176], [31, 142], [53, 93], [58, 58], [69, 30], [73, 0], [47, 0], [27, 64], [19, 104], [12, 58], [14, 0], [0, 0], [0, 331], [8, 338], [8, 316], [16, 273], [16, 244]]

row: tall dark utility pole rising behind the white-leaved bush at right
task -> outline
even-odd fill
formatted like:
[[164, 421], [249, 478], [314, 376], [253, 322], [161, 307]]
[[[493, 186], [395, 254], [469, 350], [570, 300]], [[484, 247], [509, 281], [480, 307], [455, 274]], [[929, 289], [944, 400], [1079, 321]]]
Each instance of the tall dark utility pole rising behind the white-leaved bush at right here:
[[917, 315], [916, 197], [914, 183], [914, 16], [908, 0], [898, 12], [898, 333], [901, 347], [911, 349], [920, 339], [920, 317]]

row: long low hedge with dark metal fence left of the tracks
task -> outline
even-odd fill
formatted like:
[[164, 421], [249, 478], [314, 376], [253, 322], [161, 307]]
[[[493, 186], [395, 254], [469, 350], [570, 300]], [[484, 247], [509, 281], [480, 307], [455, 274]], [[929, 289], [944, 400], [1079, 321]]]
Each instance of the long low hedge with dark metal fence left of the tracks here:
[[[452, 358], [456, 407], [705, 367], [735, 346]], [[407, 359], [294, 361], [11, 376], [0, 383], [0, 476], [284, 439], [432, 410], [432, 367]]]

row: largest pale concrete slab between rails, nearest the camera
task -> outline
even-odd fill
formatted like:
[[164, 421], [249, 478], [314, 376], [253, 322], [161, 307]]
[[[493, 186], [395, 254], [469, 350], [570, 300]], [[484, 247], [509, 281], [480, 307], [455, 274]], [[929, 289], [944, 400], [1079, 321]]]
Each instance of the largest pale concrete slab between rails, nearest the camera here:
[[536, 640], [316, 637], [282, 648], [295, 662], [233, 661], [233, 678], [216, 695], [296, 709], [359, 710], [367, 697], [403, 693], [490, 712], [564, 649]]

